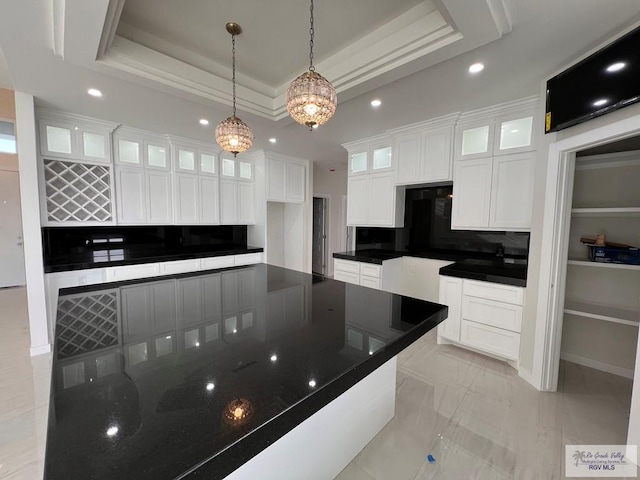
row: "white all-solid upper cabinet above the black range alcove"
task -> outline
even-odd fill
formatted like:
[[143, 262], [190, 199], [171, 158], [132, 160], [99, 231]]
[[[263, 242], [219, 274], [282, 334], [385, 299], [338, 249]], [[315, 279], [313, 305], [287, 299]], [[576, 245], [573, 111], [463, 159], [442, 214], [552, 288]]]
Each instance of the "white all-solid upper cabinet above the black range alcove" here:
[[397, 185], [451, 181], [453, 130], [459, 114], [392, 130]]

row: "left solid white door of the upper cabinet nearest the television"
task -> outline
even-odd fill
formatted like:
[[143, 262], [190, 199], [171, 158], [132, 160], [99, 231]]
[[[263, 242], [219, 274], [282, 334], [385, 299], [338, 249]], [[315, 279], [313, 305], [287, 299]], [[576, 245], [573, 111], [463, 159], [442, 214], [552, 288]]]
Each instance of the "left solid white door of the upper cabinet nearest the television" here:
[[491, 167], [491, 157], [454, 163], [452, 229], [474, 230], [489, 226]]

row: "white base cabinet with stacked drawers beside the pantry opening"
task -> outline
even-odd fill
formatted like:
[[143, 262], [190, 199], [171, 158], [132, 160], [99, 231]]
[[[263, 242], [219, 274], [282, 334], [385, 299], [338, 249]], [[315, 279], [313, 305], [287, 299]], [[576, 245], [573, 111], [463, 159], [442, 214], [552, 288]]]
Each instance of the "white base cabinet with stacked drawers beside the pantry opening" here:
[[518, 360], [524, 290], [440, 276], [439, 302], [449, 307], [449, 316], [438, 325], [438, 341], [451, 341], [506, 360]]

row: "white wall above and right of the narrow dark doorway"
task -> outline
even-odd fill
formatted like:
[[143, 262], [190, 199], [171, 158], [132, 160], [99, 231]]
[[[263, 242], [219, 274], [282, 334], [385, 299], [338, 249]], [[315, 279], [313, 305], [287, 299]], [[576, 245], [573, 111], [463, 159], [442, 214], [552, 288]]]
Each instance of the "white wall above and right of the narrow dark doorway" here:
[[[346, 163], [347, 152], [344, 152]], [[342, 196], [347, 194], [347, 165], [342, 161], [338, 165], [313, 164], [313, 195], [327, 196], [329, 198], [327, 242], [329, 268], [327, 275], [333, 276], [333, 254], [344, 251], [344, 239], [342, 238]], [[331, 169], [334, 171], [332, 172]], [[346, 219], [345, 219], [346, 221]]]

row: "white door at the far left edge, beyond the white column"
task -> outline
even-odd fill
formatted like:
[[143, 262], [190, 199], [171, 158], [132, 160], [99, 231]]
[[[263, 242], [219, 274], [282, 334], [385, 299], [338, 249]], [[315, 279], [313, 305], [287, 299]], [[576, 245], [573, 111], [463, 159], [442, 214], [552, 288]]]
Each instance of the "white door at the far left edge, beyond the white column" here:
[[26, 283], [20, 212], [18, 172], [0, 170], [0, 288]]

